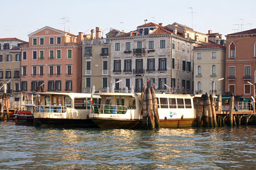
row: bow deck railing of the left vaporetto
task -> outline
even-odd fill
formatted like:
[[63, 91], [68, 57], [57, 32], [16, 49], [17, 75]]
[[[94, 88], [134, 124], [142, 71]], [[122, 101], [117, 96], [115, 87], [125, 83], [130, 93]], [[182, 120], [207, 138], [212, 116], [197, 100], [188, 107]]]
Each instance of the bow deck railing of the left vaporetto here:
[[35, 112], [38, 113], [65, 113], [67, 107], [58, 105], [35, 105]]

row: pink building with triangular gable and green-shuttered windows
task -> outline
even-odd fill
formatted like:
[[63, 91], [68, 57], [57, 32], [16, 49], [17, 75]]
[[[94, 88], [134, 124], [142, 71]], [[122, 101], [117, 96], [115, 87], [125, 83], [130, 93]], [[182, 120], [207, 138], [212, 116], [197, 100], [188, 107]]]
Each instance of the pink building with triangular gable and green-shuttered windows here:
[[81, 92], [81, 44], [78, 36], [51, 27], [28, 35], [21, 52], [21, 90]]

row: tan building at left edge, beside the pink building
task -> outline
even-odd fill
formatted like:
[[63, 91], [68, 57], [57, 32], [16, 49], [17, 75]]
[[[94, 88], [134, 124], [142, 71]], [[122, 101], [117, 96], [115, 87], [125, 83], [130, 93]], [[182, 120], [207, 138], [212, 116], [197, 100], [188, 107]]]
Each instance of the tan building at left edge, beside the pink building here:
[[[20, 45], [26, 41], [16, 38], [0, 39], [0, 87], [6, 82], [6, 94], [10, 101], [19, 97], [20, 92]], [[4, 88], [0, 89], [2, 94]], [[19, 100], [19, 99], [17, 99]]]

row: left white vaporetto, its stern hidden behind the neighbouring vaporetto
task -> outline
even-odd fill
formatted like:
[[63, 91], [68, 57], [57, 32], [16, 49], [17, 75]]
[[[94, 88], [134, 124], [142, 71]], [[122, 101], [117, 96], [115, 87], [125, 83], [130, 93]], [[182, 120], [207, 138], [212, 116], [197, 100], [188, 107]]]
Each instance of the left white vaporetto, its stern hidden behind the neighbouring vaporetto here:
[[[84, 127], [96, 125], [89, 120], [91, 94], [37, 92], [34, 125]], [[100, 96], [93, 95], [97, 104]]]

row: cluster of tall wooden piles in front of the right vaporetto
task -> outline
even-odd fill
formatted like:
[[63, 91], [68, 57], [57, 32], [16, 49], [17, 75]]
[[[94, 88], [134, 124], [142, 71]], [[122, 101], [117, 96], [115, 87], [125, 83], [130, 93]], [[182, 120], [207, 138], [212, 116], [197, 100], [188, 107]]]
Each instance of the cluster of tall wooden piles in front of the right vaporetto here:
[[154, 84], [150, 86], [143, 86], [143, 92], [141, 93], [141, 110], [142, 110], [142, 126], [145, 129], [160, 128], [158, 103], [156, 100]]

